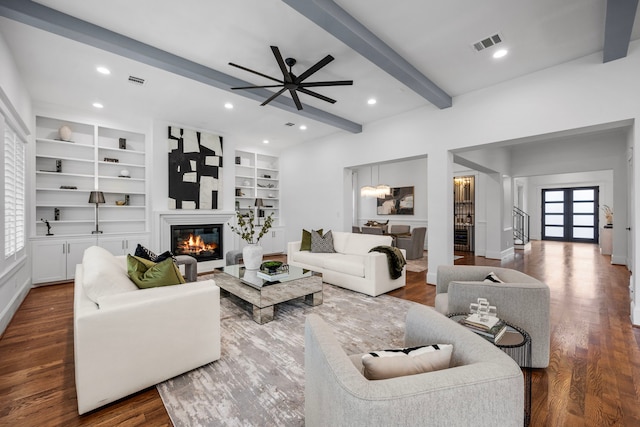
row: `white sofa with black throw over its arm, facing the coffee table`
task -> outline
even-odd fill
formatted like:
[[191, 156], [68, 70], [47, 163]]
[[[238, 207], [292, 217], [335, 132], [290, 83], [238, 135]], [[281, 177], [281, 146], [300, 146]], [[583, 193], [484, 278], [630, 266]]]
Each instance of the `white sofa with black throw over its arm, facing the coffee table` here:
[[[335, 253], [301, 251], [300, 241], [287, 245], [287, 263], [322, 273], [322, 281], [363, 294], [378, 296], [406, 283], [406, 267], [392, 280], [387, 256], [369, 252], [374, 246], [391, 246], [391, 236], [332, 231]], [[406, 252], [401, 250], [404, 256]]]

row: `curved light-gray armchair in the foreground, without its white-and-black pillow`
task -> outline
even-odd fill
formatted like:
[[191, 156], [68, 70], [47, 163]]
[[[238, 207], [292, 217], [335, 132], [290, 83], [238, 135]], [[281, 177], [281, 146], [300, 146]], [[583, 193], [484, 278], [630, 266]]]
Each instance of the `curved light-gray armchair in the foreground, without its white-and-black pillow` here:
[[[318, 315], [305, 325], [305, 425], [522, 426], [524, 382], [505, 353], [438, 314], [415, 305], [407, 313], [405, 346], [453, 344], [451, 368], [367, 380]], [[367, 349], [370, 351], [380, 349]]]

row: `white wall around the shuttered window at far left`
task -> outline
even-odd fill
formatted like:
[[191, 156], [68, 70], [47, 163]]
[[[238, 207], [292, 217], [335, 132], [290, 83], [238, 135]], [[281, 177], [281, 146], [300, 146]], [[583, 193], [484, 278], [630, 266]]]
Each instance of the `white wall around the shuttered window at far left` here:
[[[4, 39], [0, 35], [0, 135], [3, 135], [5, 119], [11, 127], [26, 137], [33, 144], [34, 118], [31, 109], [29, 92], [24, 86], [20, 73]], [[4, 177], [4, 150], [0, 153], [0, 174]], [[27, 176], [29, 171], [27, 171]], [[26, 182], [27, 188], [29, 180]], [[4, 178], [0, 187], [0, 200], [4, 200]], [[0, 241], [4, 247], [4, 215], [0, 217]], [[27, 216], [27, 236], [30, 231]], [[0, 335], [5, 331], [9, 321], [27, 295], [31, 286], [31, 264], [27, 258], [29, 243], [25, 249], [14, 257], [0, 257]]]

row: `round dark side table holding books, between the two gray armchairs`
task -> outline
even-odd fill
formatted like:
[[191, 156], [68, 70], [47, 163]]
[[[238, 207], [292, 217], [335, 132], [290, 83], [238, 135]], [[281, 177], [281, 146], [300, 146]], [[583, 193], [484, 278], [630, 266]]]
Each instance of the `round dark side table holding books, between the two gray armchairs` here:
[[[447, 317], [456, 322], [460, 322], [467, 316], [467, 313], [447, 315]], [[507, 353], [522, 368], [524, 376], [524, 425], [528, 426], [531, 421], [531, 336], [524, 329], [507, 321], [505, 323], [507, 324], [507, 330], [504, 335], [495, 343], [489, 339], [487, 341]], [[478, 335], [482, 337], [482, 335]]]

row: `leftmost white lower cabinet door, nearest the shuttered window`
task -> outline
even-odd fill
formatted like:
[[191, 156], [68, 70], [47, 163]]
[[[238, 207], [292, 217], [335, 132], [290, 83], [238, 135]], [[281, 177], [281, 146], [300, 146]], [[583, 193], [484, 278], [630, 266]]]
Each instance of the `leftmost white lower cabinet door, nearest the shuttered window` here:
[[31, 245], [33, 283], [57, 282], [67, 278], [67, 241], [46, 240]]

